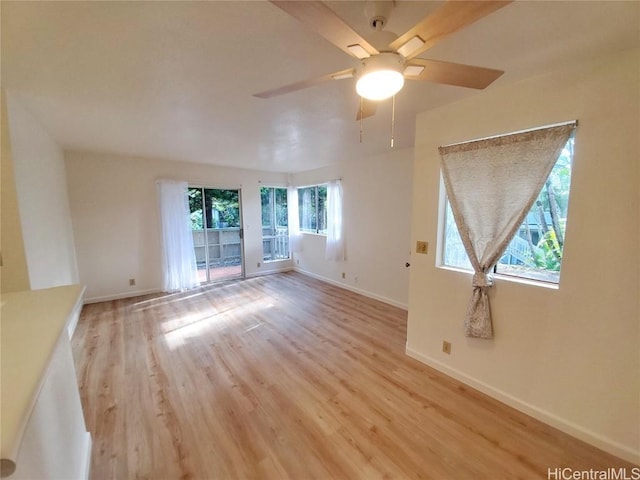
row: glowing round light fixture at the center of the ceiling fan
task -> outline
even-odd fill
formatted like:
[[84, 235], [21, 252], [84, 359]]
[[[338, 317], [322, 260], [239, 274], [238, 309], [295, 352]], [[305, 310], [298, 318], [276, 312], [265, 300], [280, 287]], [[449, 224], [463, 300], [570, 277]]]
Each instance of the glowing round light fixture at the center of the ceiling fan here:
[[404, 86], [403, 58], [397, 53], [381, 53], [362, 62], [356, 92], [368, 100], [384, 100]]

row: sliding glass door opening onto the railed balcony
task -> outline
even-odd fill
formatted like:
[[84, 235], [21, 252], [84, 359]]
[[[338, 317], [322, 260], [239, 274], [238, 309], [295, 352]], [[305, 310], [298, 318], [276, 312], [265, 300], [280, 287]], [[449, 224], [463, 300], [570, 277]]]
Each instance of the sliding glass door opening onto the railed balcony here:
[[244, 276], [240, 190], [189, 187], [200, 282]]

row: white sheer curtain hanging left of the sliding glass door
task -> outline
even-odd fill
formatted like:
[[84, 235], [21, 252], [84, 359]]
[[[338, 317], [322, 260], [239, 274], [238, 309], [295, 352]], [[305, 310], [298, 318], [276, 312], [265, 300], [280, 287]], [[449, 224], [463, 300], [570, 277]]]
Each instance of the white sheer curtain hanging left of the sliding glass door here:
[[162, 223], [162, 284], [165, 292], [200, 285], [193, 250], [187, 182], [158, 181]]

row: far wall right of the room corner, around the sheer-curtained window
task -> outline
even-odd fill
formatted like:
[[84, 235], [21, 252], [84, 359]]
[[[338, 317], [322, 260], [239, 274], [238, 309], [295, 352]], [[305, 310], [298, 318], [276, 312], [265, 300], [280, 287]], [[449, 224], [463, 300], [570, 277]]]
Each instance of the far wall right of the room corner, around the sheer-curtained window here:
[[[346, 260], [325, 260], [326, 237], [303, 234], [296, 269], [407, 308], [413, 149], [293, 175], [297, 186], [342, 178]], [[342, 273], [346, 278], [342, 279]]]

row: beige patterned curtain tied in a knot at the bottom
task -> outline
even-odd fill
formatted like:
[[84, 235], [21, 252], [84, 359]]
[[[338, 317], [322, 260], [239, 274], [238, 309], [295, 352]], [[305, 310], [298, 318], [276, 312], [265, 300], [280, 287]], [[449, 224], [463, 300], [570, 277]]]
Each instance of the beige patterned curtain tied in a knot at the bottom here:
[[440, 147], [453, 216], [474, 269], [469, 337], [492, 338], [487, 276], [537, 198], [575, 122]]

